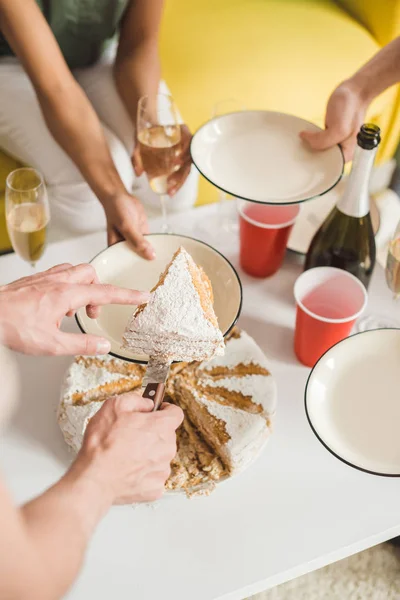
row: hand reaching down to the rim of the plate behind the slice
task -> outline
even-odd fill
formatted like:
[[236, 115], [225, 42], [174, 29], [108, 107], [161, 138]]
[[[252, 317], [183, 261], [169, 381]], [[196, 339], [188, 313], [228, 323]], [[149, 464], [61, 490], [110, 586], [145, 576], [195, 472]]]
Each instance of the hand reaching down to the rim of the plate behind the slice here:
[[107, 218], [108, 244], [126, 240], [137, 254], [148, 260], [154, 259], [154, 249], [143, 237], [149, 233], [149, 228], [139, 200], [126, 192], [102, 204]]

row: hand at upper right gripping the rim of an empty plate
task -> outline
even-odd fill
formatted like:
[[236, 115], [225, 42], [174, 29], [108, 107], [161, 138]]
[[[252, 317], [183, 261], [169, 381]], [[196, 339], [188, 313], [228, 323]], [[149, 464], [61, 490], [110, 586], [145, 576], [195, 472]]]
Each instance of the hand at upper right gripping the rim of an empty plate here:
[[340, 84], [329, 98], [326, 107], [325, 130], [312, 133], [302, 131], [300, 137], [313, 150], [326, 150], [340, 144], [345, 162], [353, 158], [357, 133], [364, 123], [368, 102], [361, 90], [352, 82]]

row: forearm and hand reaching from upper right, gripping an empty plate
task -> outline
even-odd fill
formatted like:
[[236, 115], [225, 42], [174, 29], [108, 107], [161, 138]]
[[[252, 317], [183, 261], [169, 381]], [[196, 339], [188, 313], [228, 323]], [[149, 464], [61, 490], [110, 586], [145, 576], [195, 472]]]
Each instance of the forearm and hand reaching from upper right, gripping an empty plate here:
[[318, 133], [304, 131], [301, 137], [315, 150], [340, 144], [345, 160], [350, 160], [368, 106], [376, 96], [399, 81], [400, 37], [382, 48], [334, 90], [326, 108], [325, 130]]

